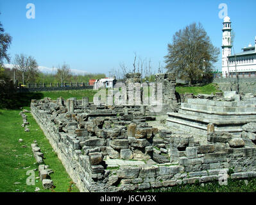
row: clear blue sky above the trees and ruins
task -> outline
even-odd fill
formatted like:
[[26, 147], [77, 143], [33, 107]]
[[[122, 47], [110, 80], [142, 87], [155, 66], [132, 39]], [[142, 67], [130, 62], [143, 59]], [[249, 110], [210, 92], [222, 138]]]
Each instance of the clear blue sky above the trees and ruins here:
[[[26, 4], [35, 4], [35, 19], [27, 19]], [[164, 66], [167, 44], [179, 29], [201, 22], [212, 44], [221, 48], [220, 3], [228, 6], [239, 53], [256, 36], [256, 1], [173, 0], [0, 0], [0, 20], [13, 37], [9, 53], [33, 56], [38, 65], [64, 61], [71, 69], [108, 74], [124, 62], [132, 69], [134, 52]], [[216, 63], [221, 70], [221, 55]]]

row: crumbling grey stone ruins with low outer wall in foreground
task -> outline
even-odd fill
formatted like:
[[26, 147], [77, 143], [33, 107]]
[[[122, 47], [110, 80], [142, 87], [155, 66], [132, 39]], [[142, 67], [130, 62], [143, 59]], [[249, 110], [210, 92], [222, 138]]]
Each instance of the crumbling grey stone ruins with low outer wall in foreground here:
[[121, 192], [256, 176], [256, 124], [241, 135], [209, 129], [205, 142], [157, 129], [140, 106], [88, 99], [31, 101], [31, 113], [81, 192]]

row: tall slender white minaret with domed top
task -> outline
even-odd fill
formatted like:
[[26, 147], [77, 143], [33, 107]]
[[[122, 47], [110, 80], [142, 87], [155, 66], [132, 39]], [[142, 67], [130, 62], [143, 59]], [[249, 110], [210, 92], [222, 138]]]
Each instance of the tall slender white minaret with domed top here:
[[222, 29], [222, 75], [224, 78], [228, 76], [228, 56], [231, 55], [231, 22], [230, 17], [226, 16], [223, 20]]

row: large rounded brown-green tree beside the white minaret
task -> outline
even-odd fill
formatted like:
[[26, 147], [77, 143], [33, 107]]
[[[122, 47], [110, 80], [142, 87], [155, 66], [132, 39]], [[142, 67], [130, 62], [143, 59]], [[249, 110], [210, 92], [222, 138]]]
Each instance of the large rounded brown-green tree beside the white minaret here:
[[211, 72], [218, 61], [219, 49], [210, 42], [203, 26], [193, 23], [173, 35], [172, 44], [167, 45], [166, 69], [176, 77], [189, 80], [189, 84]]

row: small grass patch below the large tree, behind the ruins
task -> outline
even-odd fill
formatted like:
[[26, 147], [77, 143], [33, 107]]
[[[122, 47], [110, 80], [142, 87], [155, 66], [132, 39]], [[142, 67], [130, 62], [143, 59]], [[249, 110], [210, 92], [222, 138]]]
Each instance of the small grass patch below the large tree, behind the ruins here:
[[198, 94], [216, 94], [216, 92], [221, 92], [218, 89], [218, 86], [214, 83], [210, 83], [203, 86], [191, 86], [191, 87], [182, 87], [176, 86], [176, 92], [179, 94], [192, 93], [194, 95]]

